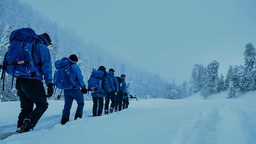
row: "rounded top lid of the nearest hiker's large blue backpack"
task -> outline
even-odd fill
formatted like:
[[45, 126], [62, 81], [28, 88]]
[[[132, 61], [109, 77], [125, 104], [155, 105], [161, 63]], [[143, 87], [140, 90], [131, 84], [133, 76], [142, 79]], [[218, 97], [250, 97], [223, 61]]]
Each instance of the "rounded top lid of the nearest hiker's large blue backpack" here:
[[12, 41], [14, 40], [23, 42], [26, 41], [26, 39], [28, 38], [37, 39], [38, 36], [36, 35], [35, 31], [31, 28], [20, 28], [12, 31], [9, 41], [10, 43], [12, 43]]

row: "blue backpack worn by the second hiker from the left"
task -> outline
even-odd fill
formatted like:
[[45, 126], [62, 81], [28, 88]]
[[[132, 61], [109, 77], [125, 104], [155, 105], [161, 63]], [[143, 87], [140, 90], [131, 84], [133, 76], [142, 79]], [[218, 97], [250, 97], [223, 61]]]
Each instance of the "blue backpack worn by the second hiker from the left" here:
[[76, 87], [76, 76], [74, 73], [74, 62], [69, 58], [62, 58], [54, 62], [54, 84], [61, 90], [74, 89]]

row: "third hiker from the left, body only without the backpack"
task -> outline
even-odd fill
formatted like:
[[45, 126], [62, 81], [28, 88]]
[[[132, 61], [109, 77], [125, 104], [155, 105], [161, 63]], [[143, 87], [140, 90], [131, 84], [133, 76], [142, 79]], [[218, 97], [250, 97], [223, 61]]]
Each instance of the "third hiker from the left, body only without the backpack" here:
[[103, 93], [92, 92], [91, 93], [92, 100], [93, 100], [93, 108], [92, 108], [93, 116], [101, 116], [103, 106], [104, 106], [103, 97], [107, 97], [107, 94], [110, 92], [110, 89], [108, 87], [106, 68], [104, 66], [100, 66], [98, 70], [102, 70], [104, 72], [103, 77], [102, 77], [102, 88], [105, 92], [103, 92]]

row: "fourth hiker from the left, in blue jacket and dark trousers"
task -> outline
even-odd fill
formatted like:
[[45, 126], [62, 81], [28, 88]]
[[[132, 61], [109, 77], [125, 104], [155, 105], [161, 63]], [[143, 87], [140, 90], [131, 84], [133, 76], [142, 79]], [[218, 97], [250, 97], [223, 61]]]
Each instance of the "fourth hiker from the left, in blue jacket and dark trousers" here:
[[[114, 76], [115, 70], [110, 68], [109, 71], [107, 72], [107, 79], [108, 79], [108, 86], [110, 89], [110, 92], [108, 93], [107, 97], [105, 97], [105, 115], [108, 114], [108, 112], [113, 113], [114, 111], [114, 107], [115, 107], [115, 103], [116, 103], [116, 92], [119, 92], [119, 88], [118, 88], [118, 82], [116, 77]], [[111, 100], [111, 104], [110, 104], [110, 109], [108, 111], [108, 107], [109, 107], [109, 100]]]

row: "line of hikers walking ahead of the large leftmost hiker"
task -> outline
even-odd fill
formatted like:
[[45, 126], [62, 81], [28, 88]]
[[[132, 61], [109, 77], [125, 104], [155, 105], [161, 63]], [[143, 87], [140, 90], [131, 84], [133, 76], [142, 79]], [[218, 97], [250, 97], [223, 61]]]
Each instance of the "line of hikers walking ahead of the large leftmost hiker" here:
[[[106, 71], [104, 66], [100, 66], [98, 70], [93, 69], [88, 80], [88, 89], [86, 89], [82, 72], [78, 65], [78, 58], [75, 54], [69, 58], [62, 58], [55, 61], [54, 81], [56, 86], [64, 91], [65, 105], [62, 111], [61, 124], [66, 124], [69, 121], [70, 109], [75, 99], [77, 101], [77, 109], [75, 119], [82, 118], [84, 97], [87, 91], [91, 91], [93, 100], [92, 116], [101, 116], [104, 106], [105, 115], [113, 113], [117, 110], [128, 108], [129, 97], [132, 95], [129, 92], [129, 84], [125, 82], [125, 75], [120, 77], [114, 75], [115, 70], [110, 68]], [[81, 87], [81, 90], [79, 89]], [[111, 100], [110, 108], [109, 101]]]

